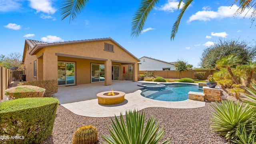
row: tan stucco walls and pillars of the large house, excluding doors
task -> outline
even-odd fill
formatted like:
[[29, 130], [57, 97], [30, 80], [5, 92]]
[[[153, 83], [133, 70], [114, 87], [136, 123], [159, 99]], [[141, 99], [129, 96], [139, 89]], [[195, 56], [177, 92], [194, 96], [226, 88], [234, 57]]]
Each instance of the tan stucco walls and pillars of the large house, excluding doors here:
[[[108, 52], [104, 50], [104, 42], [114, 45], [114, 52]], [[85, 56], [91, 58], [102, 58], [104, 60], [91, 60], [84, 58], [72, 58], [65, 56], [56, 56], [56, 53], [59, 54], [68, 54], [74, 56]], [[40, 58], [38, 58], [40, 56]], [[26, 59], [24, 65], [26, 66], [26, 77], [27, 80], [34, 80], [33, 76], [33, 62], [37, 60], [37, 77], [38, 79], [50, 80], [58, 78], [58, 61], [62, 62], [75, 62], [75, 78], [76, 84], [86, 84], [90, 83], [91, 75], [91, 64], [105, 64], [105, 85], [110, 85], [112, 80], [112, 65], [120, 66], [120, 80], [123, 79], [123, 66], [125, 66], [128, 71], [128, 65], [132, 65], [134, 69], [134, 81], [137, 81], [138, 75], [138, 60], [132, 55], [128, 54], [125, 50], [120, 48], [111, 40], [106, 41], [96, 41], [96, 42], [86, 42], [78, 44], [68, 44], [60, 46], [50, 46], [43, 48], [36, 55], [29, 55], [26, 52]], [[122, 61], [130, 62], [135, 64], [124, 64], [121, 62], [112, 62]], [[41, 66], [43, 65], [43, 66]], [[107, 78], [107, 80], [106, 80]]]

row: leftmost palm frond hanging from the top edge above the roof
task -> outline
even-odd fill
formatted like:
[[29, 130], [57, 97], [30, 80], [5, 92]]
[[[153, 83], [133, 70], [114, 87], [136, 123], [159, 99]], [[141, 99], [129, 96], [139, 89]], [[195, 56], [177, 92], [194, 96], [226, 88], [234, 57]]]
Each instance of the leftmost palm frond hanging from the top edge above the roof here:
[[76, 19], [89, 0], [63, 0], [60, 4], [61, 20], [69, 16], [69, 22]]

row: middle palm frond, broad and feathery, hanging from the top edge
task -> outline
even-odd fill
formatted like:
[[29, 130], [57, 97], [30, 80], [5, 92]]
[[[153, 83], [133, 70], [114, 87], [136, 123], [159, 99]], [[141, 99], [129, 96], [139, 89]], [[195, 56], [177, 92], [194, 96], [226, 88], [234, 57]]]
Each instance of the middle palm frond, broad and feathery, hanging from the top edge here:
[[158, 2], [159, 0], [142, 0], [140, 2], [138, 10], [135, 12], [134, 17], [132, 18], [132, 38], [140, 35], [148, 14]]

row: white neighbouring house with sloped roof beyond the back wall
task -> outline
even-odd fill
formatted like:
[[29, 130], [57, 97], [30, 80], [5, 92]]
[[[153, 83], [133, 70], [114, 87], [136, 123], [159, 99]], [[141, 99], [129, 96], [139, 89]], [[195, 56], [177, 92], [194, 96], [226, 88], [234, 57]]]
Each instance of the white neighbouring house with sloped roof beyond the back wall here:
[[140, 58], [140, 63], [140, 70], [176, 70], [175, 62], [165, 62], [147, 56]]

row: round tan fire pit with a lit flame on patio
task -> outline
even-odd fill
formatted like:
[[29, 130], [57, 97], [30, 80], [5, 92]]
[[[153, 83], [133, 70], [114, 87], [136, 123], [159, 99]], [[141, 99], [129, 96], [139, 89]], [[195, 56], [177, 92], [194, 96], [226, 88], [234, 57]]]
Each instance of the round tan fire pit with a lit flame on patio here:
[[[110, 92], [100, 92], [97, 94], [99, 104], [119, 104], [124, 101], [124, 92], [113, 91], [115, 95], [108, 95]], [[112, 93], [112, 92], [111, 92]]]

